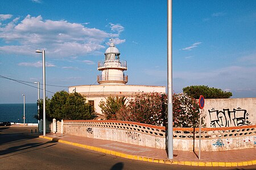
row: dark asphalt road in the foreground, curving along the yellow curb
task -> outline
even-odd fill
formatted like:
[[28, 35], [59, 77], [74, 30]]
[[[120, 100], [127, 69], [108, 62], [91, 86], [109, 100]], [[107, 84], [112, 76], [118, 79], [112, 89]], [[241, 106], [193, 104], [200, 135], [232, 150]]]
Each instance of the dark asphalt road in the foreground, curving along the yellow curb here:
[[[47, 141], [31, 127], [0, 127], [0, 169], [239, 169], [147, 163]], [[243, 167], [240, 169], [256, 169]]]

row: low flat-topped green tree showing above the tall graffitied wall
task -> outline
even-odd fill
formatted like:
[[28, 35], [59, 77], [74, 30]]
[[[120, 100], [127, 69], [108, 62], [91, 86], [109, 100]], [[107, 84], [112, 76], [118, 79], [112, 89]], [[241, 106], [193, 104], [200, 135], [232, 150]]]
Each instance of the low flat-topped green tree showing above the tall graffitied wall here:
[[199, 99], [200, 95], [203, 95], [205, 99], [228, 99], [232, 96], [232, 92], [224, 92], [219, 88], [208, 86], [188, 86], [183, 88], [183, 92], [195, 99]]

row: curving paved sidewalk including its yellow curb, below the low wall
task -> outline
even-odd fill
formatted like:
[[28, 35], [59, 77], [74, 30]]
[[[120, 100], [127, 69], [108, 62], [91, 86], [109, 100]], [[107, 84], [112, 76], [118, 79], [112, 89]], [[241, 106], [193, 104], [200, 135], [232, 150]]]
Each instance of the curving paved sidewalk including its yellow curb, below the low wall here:
[[65, 134], [47, 134], [46, 136], [40, 135], [39, 138], [66, 143], [68, 145], [82, 147], [88, 150], [115, 155], [122, 158], [154, 163], [207, 167], [241, 167], [246, 165], [256, 165], [256, 148], [232, 151], [201, 152], [200, 160], [197, 158], [198, 152], [174, 151], [174, 159], [170, 160], [168, 159], [166, 150], [131, 145], [129, 143]]

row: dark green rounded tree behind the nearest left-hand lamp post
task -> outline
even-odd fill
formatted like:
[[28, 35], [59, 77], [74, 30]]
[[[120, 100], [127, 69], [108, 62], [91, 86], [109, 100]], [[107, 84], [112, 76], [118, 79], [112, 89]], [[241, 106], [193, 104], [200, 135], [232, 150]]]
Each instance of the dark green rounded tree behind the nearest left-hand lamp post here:
[[[94, 116], [93, 107], [85, 103], [85, 98], [78, 93], [56, 92], [52, 99], [46, 100], [48, 120], [90, 120]], [[40, 100], [40, 118], [43, 118], [43, 100]]]

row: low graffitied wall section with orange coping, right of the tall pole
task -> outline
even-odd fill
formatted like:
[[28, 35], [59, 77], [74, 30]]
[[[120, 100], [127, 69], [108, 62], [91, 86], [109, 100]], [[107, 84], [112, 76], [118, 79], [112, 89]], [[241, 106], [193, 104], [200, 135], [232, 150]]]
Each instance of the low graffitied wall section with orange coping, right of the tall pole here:
[[[256, 148], [256, 126], [202, 128], [201, 151]], [[199, 128], [174, 128], [174, 150], [199, 151]]]

